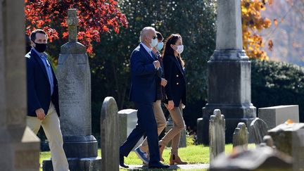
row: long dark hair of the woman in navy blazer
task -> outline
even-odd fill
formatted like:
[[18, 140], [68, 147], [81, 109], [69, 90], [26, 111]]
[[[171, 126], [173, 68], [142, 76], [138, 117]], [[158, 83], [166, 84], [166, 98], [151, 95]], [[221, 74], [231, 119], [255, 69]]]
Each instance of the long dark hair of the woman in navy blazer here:
[[[172, 49], [172, 47], [170, 46], [171, 44], [175, 45], [178, 39], [182, 39], [181, 35], [179, 34], [171, 34], [170, 37], [168, 37], [165, 41], [165, 47], [163, 50], [163, 58], [165, 58], [165, 56], [175, 56], [174, 54], [174, 49]], [[182, 66], [184, 67], [184, 61], [182, 60], [182, 56], [180, 56], [180, 54], [177, 55], [177, 57], [179, 58], [179, 60], [182, 63]]]

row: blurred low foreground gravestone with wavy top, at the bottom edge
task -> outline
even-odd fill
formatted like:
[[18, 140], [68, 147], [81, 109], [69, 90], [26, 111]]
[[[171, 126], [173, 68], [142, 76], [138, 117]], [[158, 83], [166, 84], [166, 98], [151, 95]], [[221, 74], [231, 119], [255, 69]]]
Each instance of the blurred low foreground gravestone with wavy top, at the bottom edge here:
[[213, 163], [210, 171], [291, 171], [292, 158], [275, 151], [269, 146], [258, 146], [250, 150], [235, 148], [234, 152], [221, 153]]

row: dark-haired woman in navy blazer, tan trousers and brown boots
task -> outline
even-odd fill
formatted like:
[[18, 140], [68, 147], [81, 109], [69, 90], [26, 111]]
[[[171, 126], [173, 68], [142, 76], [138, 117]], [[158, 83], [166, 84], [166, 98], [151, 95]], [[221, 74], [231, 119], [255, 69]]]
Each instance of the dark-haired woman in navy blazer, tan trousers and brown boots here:
[[185, 165], [178, 156], [180, 132], [185, 128], [182, 108], [186, 106], [186, 79], [184, 72], [184, 61], [181, 53], [184, 50], [182, 37], [179, 34], [171, 34], [165, 42], [163, 52], [163, 70], [167, 85], [165, 87], [165, 106], [170, 112], [173, 120], [173, 128], [160, 140], [160, 157], [167, 143], [172, 140], [170, 165]]

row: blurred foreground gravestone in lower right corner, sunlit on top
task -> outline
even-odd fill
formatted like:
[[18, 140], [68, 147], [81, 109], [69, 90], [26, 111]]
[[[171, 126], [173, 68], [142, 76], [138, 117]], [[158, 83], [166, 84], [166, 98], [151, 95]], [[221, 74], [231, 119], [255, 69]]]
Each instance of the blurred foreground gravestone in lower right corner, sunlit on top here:
[[277, 150], [293, 157], [293, 170], [304, 170], [304, 123], [281, 124], [268, 131]]

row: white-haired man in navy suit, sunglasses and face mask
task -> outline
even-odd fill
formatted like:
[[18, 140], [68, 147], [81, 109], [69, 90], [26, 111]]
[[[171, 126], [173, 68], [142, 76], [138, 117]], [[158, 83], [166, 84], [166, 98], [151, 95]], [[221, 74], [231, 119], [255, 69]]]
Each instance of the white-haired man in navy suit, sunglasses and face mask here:
[[152, 49], [157, 45], [158, 39], [153, 27], [144, 27], [140, 35], [141, 43], [132, 52], [131, 74], [132, 83], [129, 100], [137, 106], [137, 126], [133, 129], [127, 140], [120, 146], [120, 166], [124, 164], [124, 156], [128, 156], [137, 141], [146, 133], [148, 149], [150, 152], [149, 168], [168, 168], [169, 165], [160, 163], [158, 146], [158, 132], [156, 118], [153, 113], [153, 102], [156, 101], [156, 80], [162, 74], [162, 68]]

